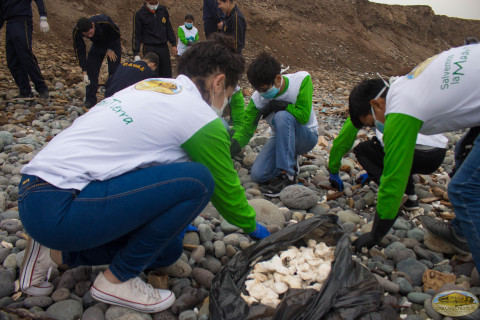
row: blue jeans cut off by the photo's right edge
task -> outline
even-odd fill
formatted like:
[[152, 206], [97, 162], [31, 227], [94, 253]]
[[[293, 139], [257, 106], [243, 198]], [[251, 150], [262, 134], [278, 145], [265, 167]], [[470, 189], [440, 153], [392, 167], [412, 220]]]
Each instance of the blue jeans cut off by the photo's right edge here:
[[455, 209], [455, 232], [464, 236], [480, 269], [480, 136], [448, 185], [448, 198]]

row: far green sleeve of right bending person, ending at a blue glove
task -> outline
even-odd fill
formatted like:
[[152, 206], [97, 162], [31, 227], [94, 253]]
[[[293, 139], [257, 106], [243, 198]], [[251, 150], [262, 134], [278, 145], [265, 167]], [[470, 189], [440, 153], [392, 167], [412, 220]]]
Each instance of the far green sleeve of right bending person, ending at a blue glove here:
[[345, 120], [338, 136], [333, 140], [332, 150], [328, 158], [328, 171], [338, 173], [343, 156], [350, 150], [355, 143], [358, 129], [355, 128], [350, 117]]

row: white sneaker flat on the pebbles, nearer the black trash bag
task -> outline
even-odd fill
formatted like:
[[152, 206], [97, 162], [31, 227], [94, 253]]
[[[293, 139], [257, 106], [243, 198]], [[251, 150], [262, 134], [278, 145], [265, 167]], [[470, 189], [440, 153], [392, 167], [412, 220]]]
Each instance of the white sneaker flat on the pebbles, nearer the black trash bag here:
[[114, 284], [105, 278], [103, 272], [98, 274], [90, 293], [98, 301], [146, 313], [163, 311], [175, 302], [172, 291], [155, 289], [139, 277]]

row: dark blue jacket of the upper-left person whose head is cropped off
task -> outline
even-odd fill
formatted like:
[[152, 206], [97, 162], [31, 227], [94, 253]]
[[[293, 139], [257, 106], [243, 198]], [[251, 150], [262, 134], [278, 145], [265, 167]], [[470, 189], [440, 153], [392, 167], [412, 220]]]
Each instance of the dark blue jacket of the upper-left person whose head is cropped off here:
[[[44, 0], [35, 0], [41, 17], [47, 16]], [[0, 0], [0, 28], [5, 21], [32, 20], [32, 0]]]

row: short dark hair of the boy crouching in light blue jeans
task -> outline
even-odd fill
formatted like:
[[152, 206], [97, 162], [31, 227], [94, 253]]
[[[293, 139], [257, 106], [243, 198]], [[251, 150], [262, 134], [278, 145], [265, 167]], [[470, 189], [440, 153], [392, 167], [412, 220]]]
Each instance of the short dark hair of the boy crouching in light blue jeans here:
[[281, 70], [280, 62], [268, 53], [262, 52], [248, 67], [247, 78], [252, 87], [258, 90], [261, 86], [271, 85]]

